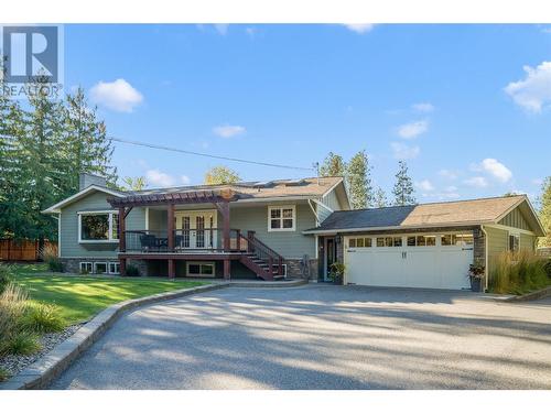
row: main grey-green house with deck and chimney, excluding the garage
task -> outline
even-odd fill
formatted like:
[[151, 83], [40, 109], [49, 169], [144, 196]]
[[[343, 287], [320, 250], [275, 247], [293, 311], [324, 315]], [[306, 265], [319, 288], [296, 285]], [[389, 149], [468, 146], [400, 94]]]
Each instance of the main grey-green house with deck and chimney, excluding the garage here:
[[273, 280], [316, 276], [316, 237], [303, 231], [341, 209], [342, 177], [120, 192], [83, 174], [44, 213], [58, 218], [65, 271]]

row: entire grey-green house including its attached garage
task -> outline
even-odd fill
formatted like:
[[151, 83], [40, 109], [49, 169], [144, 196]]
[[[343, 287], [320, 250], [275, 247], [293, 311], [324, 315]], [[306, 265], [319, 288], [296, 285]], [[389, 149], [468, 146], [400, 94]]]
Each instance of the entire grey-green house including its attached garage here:
[[491, 275], [503, 251], [533, 251], [544, 231], [526, 196], [349, 210], [342, 177], [138, 192], [83, 174], [80, 191], [47, 208], [66, 271], [328, 280], [467, 289], [472, 263]]

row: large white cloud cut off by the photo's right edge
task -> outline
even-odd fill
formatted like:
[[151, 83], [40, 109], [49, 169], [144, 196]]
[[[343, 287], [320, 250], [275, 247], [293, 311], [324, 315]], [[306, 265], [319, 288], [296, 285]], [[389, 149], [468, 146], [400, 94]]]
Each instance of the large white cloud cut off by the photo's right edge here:
[[542, 62], [538, 67], [523, 67], [526, 78], [511, 81], [505, 91], [515, 102], [528, 111], [539, 113], [551, 104], [551, 62]]

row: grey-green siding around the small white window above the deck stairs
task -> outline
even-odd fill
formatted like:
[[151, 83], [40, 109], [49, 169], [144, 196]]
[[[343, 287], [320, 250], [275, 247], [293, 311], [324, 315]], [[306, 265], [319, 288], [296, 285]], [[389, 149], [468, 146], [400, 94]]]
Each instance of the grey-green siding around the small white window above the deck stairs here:
[[[277, 205], [292, 205], [291, 203], [273, 203]], [[230, 208], [230, 227], [257, 232], [257, 238], [272, 248], [284, 258], [302, 259], [304, 254], [315, 257], [315, 239], [304, 236], [302, 231], [315, 227], [315, 216], [307, 203], [296, 205], [296, 224], [294, 231], [268, 232], [268, 206], [240, 206]], [[222, 225], [222, 222], [220, 222]]]

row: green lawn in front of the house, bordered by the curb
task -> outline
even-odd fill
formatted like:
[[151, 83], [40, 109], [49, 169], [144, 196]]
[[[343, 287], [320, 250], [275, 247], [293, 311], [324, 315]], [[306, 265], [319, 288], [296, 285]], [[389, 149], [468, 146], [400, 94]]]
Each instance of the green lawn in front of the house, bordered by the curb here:
[[111, 304], [205, 282], [166, 279], [71, 276], [48, 273], [43, 264], [14, 265], [15, 281], [33, 301], [55, 304], [67, 324], [84, 322]]

